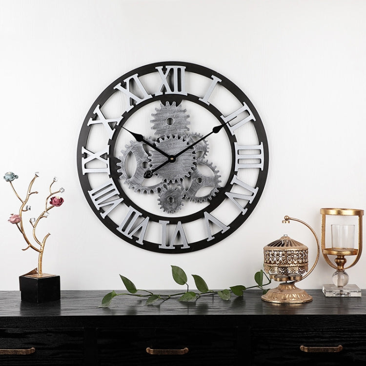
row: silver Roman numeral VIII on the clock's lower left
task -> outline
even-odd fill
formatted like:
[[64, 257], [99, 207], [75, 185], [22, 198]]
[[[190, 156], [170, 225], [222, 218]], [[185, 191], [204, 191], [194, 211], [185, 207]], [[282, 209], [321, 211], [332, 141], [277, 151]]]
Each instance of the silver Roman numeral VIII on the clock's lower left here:
[[110, 206], [104, 212], [101, 212], [101, 216], [103, 219], [123, 201], [123, 198], [117, 198], [109, 201], [110, 198], [114, 196], [119, 196], [118, 189], [114, 184], [112, 178], [110, 178], [98, 188], [94, 188], [88, 191], [88, 193], [94, 203], [94, 206], [98, 210], [100, 210], [102, 207]]

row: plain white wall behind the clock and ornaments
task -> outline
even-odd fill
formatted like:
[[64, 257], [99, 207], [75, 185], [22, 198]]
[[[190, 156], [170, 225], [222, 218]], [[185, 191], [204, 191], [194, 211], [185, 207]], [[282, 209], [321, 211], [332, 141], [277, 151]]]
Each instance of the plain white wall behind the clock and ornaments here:
[[[301, 224], [320, 234], [321, 207], [365, 208], [366, 2], [362, 0], [0, 0], [1, 169], [35, 171], [39, 196], [56, 175], [65, 203], [40, 231], [51, 233], [44, 271], [62, 289], [119, 289], [121, 273], [140, 288], [176, 288], [170, 264], [211, 288], [252, 285], [263, 246], [285, 232], [310, 248]], [[253, 214], [224, 242], [182, 255], [148, 252], [110, 233], [88, 206], [76, 147], [91, 104], [136, 67], [181, 60], [234, 81], [256, 106], [270, 168]], [[2, 175], [1, 175], [2, 176]], [[19, 202], [0, 189], [0, 290], [37, 265], [7, 223]], [[32, 198], [36, 208], [41, 197]], [[57, 211], [56, 211], [57, 210]], [[244, 239], [243, 239], [244, 238]], [[348, 273], [366, 287], [365, 257]], [[300, 287], [329, 283], [320, 258]]]

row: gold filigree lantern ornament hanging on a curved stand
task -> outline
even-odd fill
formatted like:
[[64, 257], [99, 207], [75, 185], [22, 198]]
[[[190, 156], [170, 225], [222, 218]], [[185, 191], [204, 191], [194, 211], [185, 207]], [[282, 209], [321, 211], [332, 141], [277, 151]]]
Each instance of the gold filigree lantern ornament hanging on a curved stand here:
[[[317, 256], [315, 263], [308, 271], [308, 247], [289, 236], [264, 246], [264, 271], [274, 281], [281, 282], [262, 296], [262, 300], [275, 304], [302, 304], [312, 301], [312, 297], [296, 287], [295, 283], [304, 280], [315, 268], [320, 254], [320, 245], [315, 231], [304, 221], [285, 216], [282, 222], [288, 224], [290, 220], [304, 224], [315, 237]], [[305, 272], [307, 272], [305, 274]], [[305, 275], [304, 275], [305, 274]]]

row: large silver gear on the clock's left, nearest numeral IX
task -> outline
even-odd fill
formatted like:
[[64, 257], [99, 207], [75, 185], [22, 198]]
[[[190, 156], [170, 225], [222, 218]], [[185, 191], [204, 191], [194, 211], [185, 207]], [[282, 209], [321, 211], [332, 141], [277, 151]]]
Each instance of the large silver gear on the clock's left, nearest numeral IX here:
[[[121, 168], [117, 171], [122, 173], [120, 179], [124, 179], [124, 183], [128, 184], [129, 188], [134, 189], [135, 192], [142, 193], [157, 193], [162, 190], [163, 182], [157, 183], [154, 185], [142, 185], [145, 178], [143, 178], [143, 173], [148, 168], [149, 155], [143, 148], [143, 144], [137, 141], [130, 141], [130, 145], [125, 145], [126, 150], [122, 150], [122, 156], [119, 156], [118, 159], [121, 160], [121, 163], [117, 163]], [[128, 155], [132, 153], [136, 159], [136, 170], [130, 176], [126, 170], [126, 161], [128, 159]]]

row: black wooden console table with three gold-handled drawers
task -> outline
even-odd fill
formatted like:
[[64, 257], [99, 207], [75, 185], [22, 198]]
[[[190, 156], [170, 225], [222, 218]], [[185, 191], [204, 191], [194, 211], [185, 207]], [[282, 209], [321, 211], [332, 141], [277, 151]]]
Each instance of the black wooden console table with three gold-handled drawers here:
[[[0, 365], [366, 365], [366, 298], [273, 305], [261, 292], [225, 302], [146, 306], [108, 291], [62, 291], [47, 304], [0, 291]], [[9, 354], [11, 353], [11, 354]]]

